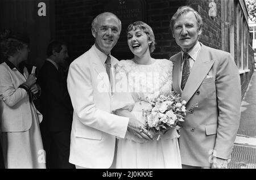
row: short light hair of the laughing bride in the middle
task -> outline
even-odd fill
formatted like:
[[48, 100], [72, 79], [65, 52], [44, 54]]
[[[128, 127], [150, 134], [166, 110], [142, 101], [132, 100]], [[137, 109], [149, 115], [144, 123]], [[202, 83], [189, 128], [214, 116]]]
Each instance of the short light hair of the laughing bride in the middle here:
[[144, 22], [137, 21], [137, 22], [131, 23], [128, 26], [127, 33], [131, 30], [135, 31], [137, 29], [140, 29], [142, 32], [146, 33], [148, 40], [152, 41], [149, 46], [149, 49], [150, 49], [150, 53], [154, 52], [156, 42], [155, 42], [155, 35], [152, 28]]

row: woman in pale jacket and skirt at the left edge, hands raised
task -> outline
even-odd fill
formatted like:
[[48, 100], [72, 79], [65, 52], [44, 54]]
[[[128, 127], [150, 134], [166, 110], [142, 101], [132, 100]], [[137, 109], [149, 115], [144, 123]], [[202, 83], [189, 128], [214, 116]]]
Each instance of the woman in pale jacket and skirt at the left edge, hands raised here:
[[[35, 74], [22, 65], [28, 57], [29, 38], [6, 31], [0, 37], [1, 142], [5, 168], [46, 168], [38, 112], [33, 98], [39, 93]], [[1, 59], [2, 60], [2, 59]]]

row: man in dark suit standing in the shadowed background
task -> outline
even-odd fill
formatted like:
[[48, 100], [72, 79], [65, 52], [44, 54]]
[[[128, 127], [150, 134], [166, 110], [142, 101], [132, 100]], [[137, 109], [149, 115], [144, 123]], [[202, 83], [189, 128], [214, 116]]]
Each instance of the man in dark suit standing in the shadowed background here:
[[48, 58], [39, 72], [41, 87], [40, 125], [47, 168], [75, 168], [68, 162], [73, 108], [67, 90], [63, 65], [68, 58], [67, 44], [52, 41], [47, 48]]

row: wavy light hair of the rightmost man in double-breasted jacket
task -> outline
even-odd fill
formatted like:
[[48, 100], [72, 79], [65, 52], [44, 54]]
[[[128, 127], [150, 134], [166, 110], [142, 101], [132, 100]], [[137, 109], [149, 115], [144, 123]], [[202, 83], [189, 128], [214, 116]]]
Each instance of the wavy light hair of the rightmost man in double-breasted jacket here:
[[174, 24], [177, 20], [177, 18], [179, 18], [179, 16], [186, 14], [188, 12], [193, 12], [193, 14], [195, 14], [196, 16], [196, 20], [197, 20], [197, 26], [199, 27], [199, 30], [202, 29], [203, 27], [203, 20], [201, 15], [195, 11], [192, 7], [189, 6], [181, 6], [177, 9], [177, 11], [175, 12], [175, 14], [172, 16], [171, 22], [170, 22], [170, 29], [173, 32], [174, 31]]

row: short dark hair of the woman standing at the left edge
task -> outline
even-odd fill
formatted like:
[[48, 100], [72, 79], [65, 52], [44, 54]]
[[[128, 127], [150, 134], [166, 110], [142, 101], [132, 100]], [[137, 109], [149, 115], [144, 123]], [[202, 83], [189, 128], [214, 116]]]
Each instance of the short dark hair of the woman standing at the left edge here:
[[25, 44], [30, 44], [30, 38], [27, 33], [19, 33], [6, 29], [0, 35], [0, 50], [4, 59], [14, 55], [18, 50], [23, 49]]

